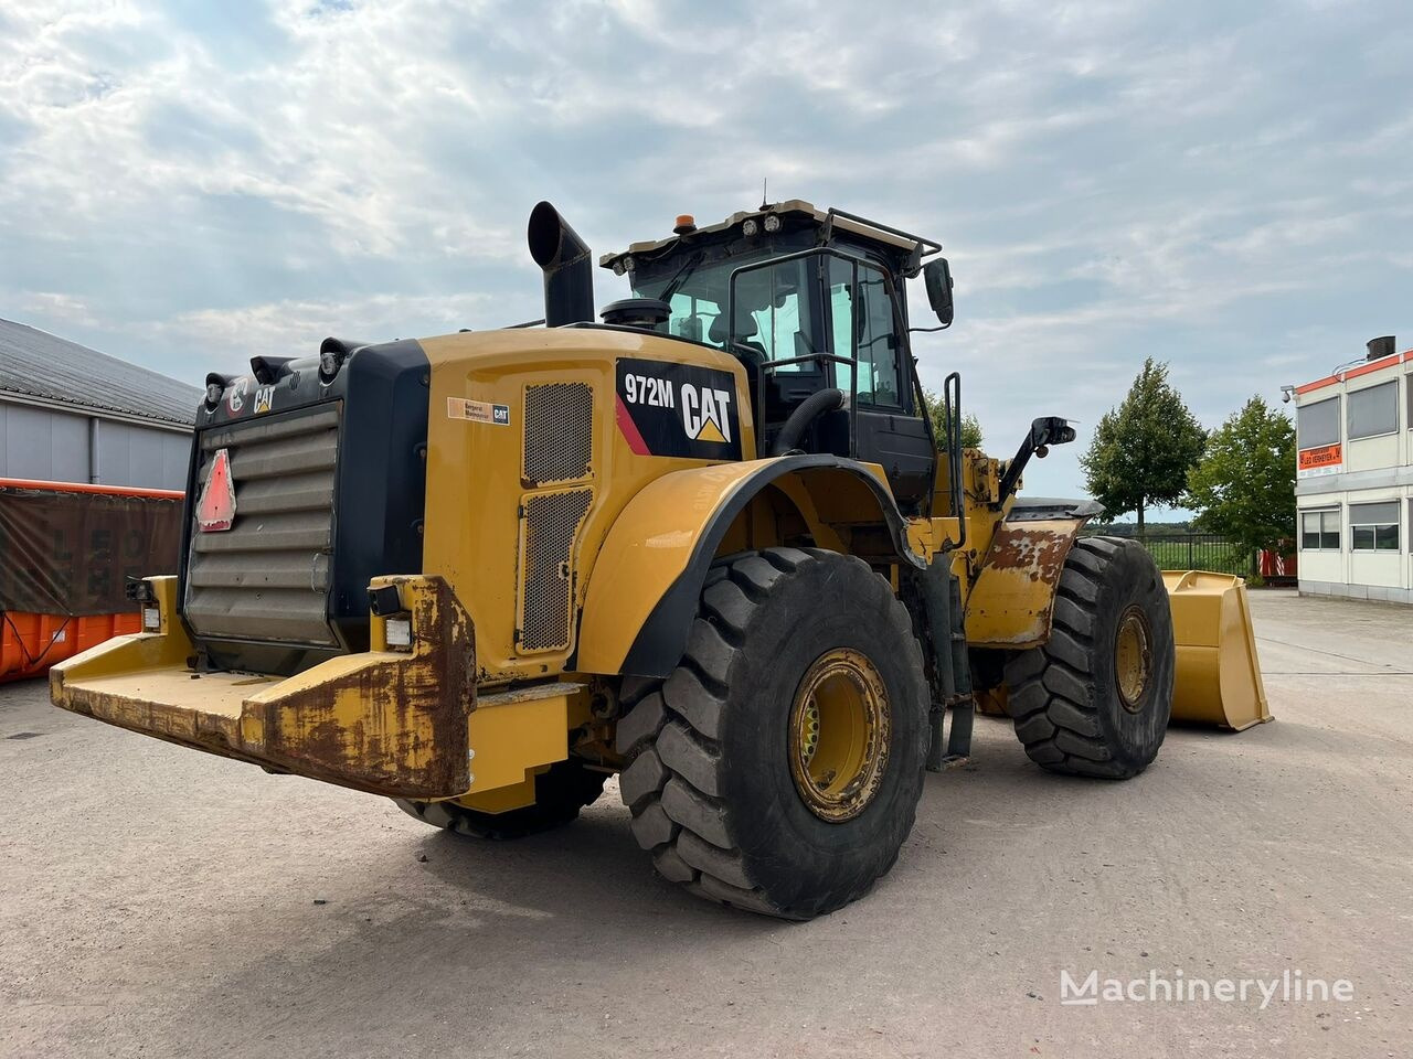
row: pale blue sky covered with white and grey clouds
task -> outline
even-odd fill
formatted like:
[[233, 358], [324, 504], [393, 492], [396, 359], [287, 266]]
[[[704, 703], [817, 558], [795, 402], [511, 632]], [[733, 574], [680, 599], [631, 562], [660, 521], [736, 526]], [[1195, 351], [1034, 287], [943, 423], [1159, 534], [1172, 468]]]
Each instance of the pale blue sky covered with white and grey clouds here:
[[945, 244], [924, 383], [1081, 421], [1033, 493], [1146, 354], [1212, 425], [1413, 339], [1399, 0], [0, 7], [0, 316], [192, 383], [540, 315], [537, 199], [603, 251], [763, 176]]

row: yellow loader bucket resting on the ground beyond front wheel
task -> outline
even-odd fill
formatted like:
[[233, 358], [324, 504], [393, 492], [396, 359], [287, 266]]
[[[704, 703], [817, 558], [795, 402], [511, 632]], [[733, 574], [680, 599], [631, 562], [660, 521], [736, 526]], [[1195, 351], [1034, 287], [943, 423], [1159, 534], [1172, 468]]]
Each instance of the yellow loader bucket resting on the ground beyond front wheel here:
[[1173, 720], [1241, 731], [1270, 720], [1246, 582], [1232, 573], [1164, 570], [1177, 674]]

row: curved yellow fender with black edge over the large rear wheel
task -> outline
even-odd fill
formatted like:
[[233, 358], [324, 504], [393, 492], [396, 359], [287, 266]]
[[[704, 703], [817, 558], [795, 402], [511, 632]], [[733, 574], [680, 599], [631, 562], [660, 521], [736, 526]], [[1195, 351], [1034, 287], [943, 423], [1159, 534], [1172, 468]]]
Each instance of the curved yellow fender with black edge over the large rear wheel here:
[[668, 676], [726, 531], [771, 484], [801, 508], [822, 546], [846, 552], [853, 530], [882, 527], [890, 561], [926, 566], [907, 544], [907, 520], [876, 465], [810, 455], [673, 472], [642, 489], [603, 541], [585, 593], [575, 668]]

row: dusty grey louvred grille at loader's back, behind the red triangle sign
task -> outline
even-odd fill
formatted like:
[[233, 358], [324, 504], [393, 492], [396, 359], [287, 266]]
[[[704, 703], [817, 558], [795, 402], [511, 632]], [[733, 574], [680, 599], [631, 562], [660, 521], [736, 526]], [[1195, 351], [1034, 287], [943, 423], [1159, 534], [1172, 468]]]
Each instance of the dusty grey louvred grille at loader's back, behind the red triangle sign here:
[[328, 621], [338, 404], [202, 433], [198, 487], [230, 453], [236, 518], [192, 531], [187, 620], [202, 637], [335, 644]]

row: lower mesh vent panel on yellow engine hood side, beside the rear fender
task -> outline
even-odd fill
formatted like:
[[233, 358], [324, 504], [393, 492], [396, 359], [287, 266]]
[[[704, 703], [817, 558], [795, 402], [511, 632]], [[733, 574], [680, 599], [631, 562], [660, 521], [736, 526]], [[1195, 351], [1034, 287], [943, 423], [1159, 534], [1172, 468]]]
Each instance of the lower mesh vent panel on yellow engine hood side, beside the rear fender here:
[[574, 538], [588, 514], [592, 489], [526, 497], [520, 521], [520, 650], [569, 645]]

